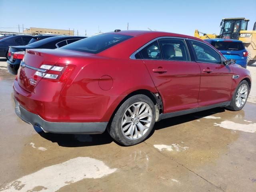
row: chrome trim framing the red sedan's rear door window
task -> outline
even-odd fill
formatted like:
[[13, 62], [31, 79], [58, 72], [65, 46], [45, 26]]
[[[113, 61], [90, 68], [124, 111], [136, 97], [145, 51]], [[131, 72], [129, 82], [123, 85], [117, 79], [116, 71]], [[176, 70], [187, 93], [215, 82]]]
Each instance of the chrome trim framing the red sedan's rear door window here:
[[[144, 49], [146, 46], [148, 46], [149, 44], [151, 44], [152, 42], [154, 41], [158, 41], [159, 39], [180, 39], [180, 40], [183, 40], [185, 46], [186, 46], [186, 51], [188, 53], [188, 57], [189, 57], [189, 60], [188, 61], [177, 61], [177, 60], [164, 60], [164, 59], [158, 59], [158, 61], [177, 61], [177, 62], [191, 62], [191, 57], [190, 57], [190, 53], [189, 53], [189, 50], [188, 50], [188, 45], [186, 44], [186, 41], [185, 40], [188, 40], [188, 38], [184, 38], [184, 37], [173, 37], [173, 36], [162, 36], [162, 37], [157, 37], [157, 38], [154, 38], [153, 40], [151, 40], [150, 42], [144, 44], [141, 48], [139, 48], [138, 50], [136, 50], [133, 54], [131, 54], [130, 56], [130, 59], [136, 59], [135, 58], [135, 55], [140, 52], [142, 49]], [[159, 44], [159, 43], [158, 43]], [[159, 45], [160, 47], [160, 45]], [[161, 50], [161, 47], [160, 47], [160, 50]], [[162, 54], [162, 50], [161, 50], [161, 54]], [[155, 60], [155, 59], [136, 59], [136, 60]]]

